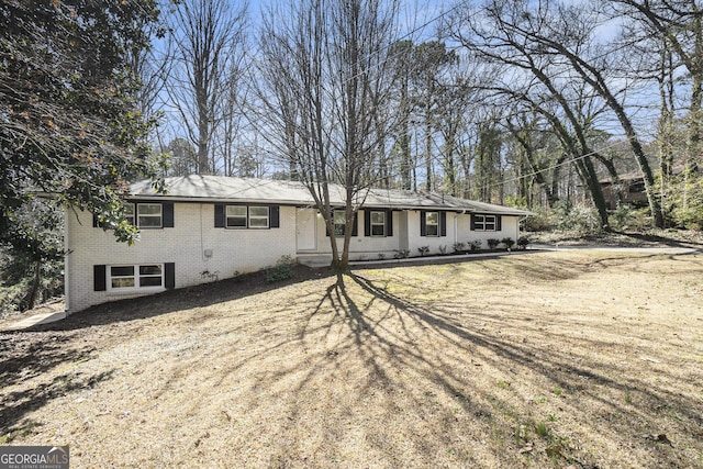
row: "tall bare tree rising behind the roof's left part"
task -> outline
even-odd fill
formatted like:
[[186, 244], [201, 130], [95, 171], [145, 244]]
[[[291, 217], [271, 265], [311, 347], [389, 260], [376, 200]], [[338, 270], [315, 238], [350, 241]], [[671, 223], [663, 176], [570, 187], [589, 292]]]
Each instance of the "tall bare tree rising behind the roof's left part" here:
[[213, 141], [239, 78], [237, 64], [245, 43], [247, 3], [183, 0], [170, 15], [175, 55], [168, 92], [189, 139], [196, 146], [198, 172], [216, 171]]

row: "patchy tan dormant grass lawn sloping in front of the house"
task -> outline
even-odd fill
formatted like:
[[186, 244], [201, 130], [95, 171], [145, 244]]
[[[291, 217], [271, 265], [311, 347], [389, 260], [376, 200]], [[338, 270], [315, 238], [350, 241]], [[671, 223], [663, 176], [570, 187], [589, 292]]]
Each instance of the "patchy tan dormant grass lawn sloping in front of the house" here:
[[0, 334], [0, 443], [76, 468], [703, 467], [701, 255], [303, 275]]

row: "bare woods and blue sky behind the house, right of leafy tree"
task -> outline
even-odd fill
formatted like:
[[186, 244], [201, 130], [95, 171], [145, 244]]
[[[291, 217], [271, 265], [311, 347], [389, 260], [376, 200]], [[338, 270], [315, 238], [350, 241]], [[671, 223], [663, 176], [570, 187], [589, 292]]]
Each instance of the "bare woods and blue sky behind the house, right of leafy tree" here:
[[[155, 100], [168, 175], [312, 177], [526, 208], [587, 202], [601, 228], [618, 202], [639, 202], [658, 227], [701, 226], [699, 2], [465, 1], [411, 26], [400, 21], [406, 8], [291, 1], [260, 18], [210, 15], [213, 33], [237, 25], [222, 47], [167, 41], [158, 59], [190, 74], [178, 86], [163, 74], [178, 93]], [[196, 125], [180, 111], [185, 96], [228, 112]], [[203, 141], [224, 144], [205, 157]], [[350, 177], [355, 166], [362, 174]]]

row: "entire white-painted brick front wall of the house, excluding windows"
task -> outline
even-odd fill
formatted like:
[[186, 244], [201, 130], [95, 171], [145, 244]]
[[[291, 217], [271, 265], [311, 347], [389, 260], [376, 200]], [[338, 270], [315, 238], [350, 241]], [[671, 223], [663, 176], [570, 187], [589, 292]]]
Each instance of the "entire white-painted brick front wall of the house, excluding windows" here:
[[[301, 209], [298, 209], [301, 210]], [[306, 209], [314, 211], [313, 209]], [[237, 272], [259, 270], [275, 265], [281, 256], [297, 256], [297, 209], [280, 206], [280, 227], [268, 230], [225, 230], [214, 227], [213, 203], [175, 203], [174, 227], [142, 230], [133, 246], [118, 243], [111, 233], [93, 227], [92, 214], [67, 212], [66, 216], [66, 305], [69, 313], [88, 306], [124, 298], [161, 291], [163, 288], [94, 291], [93, 266], [175, 264], [175, 288], [225, 279]], [[364, 216], [358, 220], [358, 236], [352, 238], [350, 259], [377, 259], [379, 254], [392, 258], [394, 249], [405, 246], [410, 256], [419, 256], [417, 247], [429, 246], [431, 254], [445, 247], [448, 253], [457, 242], [518, 236], [518, 217], [502, 217], [498, 232], [470, 231], [470, 215], [448, 212], [446, 236], [421, 236], [420, 211], [394, 211], [393, 235], [364, 236]], [[322, 217], [299, 214], [301, 220], [314, 220], [316, 237], [313, 249], [301, 254], [331, 254]], [[406, 227], [406, 233], [404, 228]], [[300, 236], [300, 232], [298, 236]], [[342, 242], [342, 239], [339, 239]], [[467, 246], [468, 247], [468, 246]], [[342, 243], [339, 243], [342, 248]], [[108, 267], [109, 268], [109, 267]]]

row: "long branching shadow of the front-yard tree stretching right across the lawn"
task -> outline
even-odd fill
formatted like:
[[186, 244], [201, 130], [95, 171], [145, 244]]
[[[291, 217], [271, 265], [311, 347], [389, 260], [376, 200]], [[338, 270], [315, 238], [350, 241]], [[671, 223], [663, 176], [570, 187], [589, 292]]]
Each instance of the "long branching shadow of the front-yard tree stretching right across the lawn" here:
[[[657, 420], [667, 414], [667, 412], [662, 412], [662, 409], [669, 411], [676, 409], [677, 418], [684, 422], [682, 427], [703, 436], [701, 406], [691, 405], [691, 397], [651, 386], [647, 376], [623, 375], [623, 370], [616, 364], [599, 360], [598, 357], [588, 359], [588, 354], [574, 357], [573, 354], [566, 350], [546, 350], [545, 344], [512, 340], [503, 336], [500, 331], [482, 331], [469, 324], [478, 324], [486, 319], [490, 320], [492, 315], [490, 311], [466, 311], [465, 309], [458, 317], [450, 308], [443, 308], [442, 302], [435, 304], [434, 302], [409, 300], [394, 294], [381, 283], [355, 273], [338, 277], [337, 282], [327, 288], [325, 299], [320, 303], [321, 306], [323, 304], [332, 305], [331, 327], [333, 322], [343, 322], [349, 332], [349, 340], [334, 350], [335, 359], [344, 361], [346, 357], [356, 354], [362, 357], [367, 364], [369, 378], [366, 388], [359, 390], [360, 395], [368, 395], [368, 392], [372, 392], [372, 389], [377, 388], [379, 383], [381, 387], [392, 388], [395, 394], [400, 392], [405, 397], [410, 395], [414, 392], [410, 383], [394, 379], [393, 376], [397, 376], [397, 370], [412, 370], [421, 379], [444, 389], [447, 395], [458, 397], [457, 406], [461, 409], [462, 413], [478, 421], [484, 421], [487, 425], [494, 425], [496, 414], [510, 414], [511, 411], [506, 409], [511, 407], [512, 398], [505, 398], [498, 391], [482, 389], [483, 395], [464, 399], [470, 392], [468, 390], [471, 388], [471, 379], [467, 379], [460, 372], [460, 365], [461, 359], [469, 359], [471, 365], [477, 366], [482, 364], [496, 368], [507, 366], [507, 369], [499, 370], [505, 377], [512, 375], [538, 376], [540, 377], [537, 378], [538, 380], [550, 383], [549, 389], [555, 393], [559, 392], [560, 395], [563, 392], [578, 395], [580, 400], [589, 401], [590, 409], [599, 409], [599, 414], [585, 415], [579, 407], [579, 402], [565, 402], [561, 404], [567, 407], [565, 412], [572, 413], [584, 422], [591, 422], [594, 427], [606, 428], [609, 434], [639, 438], [629, 442], [629, 444], [655, 455], [661, 453], [662, 458], [669, 455], [671, 460], [679, 464], [687, 464], [687, 459], [679, 459], [680, 455], [655, 448], [656, 444], [633, 435], [633, 420], [639, 422], [643, 428], [656, 428]], [[352, 286], [360, 288], [365, 294], [359, 295], [358, 290], [352, 291]], [[369, 315], [371, 309], [380, 309], [384, 313]], [[308, 319], [309, 322], [316, 315], [325, 314], [324, 310], [320, 308], [313, 311]], [[510, 321], [506, 317], [500, 320]], [[524, 317], [520, 320], [521, 324], [528, 324]], [[391, 321], [400, 324], [400, 327], [387, 327], [387, 323]], [[548, 342], [559, 340], [559, 337], [551, 336], [537, 325], [534, 325], [531, 332], [537, 336], [543, 335]], [[303, 331], [303, 337], [304, 334]], [[426, 344], [435, 344], [435, 348], [423, 348], [423, 345]], [[606, 346], [607, 343], [598, 337], [580, 337], [578, 339], [578, 347], [583, 350]], [[447, 356], [444, 355], [445, 351]], [[457, 359], [456, 357], [461, 358]], [[317, 369], [312, 369], [308, 380], [312, 380], [317, 372], [320, 372]], [[665, 369], [660, 369], [658, 372], [660, 377], [666, 377]], [[301, 390], [308, 380], [301, 383]], [[505, 381], [500, 382], [504, 383]], [[510, 386], [510, 383], [501, 386]], [[549, 392], [549, 390], [545, 390], [545, 392]], [[628, 399], [614, 398], [614, 395], [627, 397], [631, 392], [637, 393], [637, 399], [643, 402], [640, 407], [634, 406]], [[422, 398], [415, 397], [419, 406], [425, 404], [422, 402]], [[390, 405], [392, 405], [391, 402], [389, 402]], [[529, 423], [533, 417], [512, 415], [512, 418], [517, 425], [521, 421]], [[532, 424], [536, 424], [536, 422], [532, 422]], [[446, 425], [447, 432], [454, 428], [453, 423]], [[506, 437], [510, 437], [510, 432], [509, 429]], [[379, 438], [379, 442], [382, 439]], [[578, 464], [580, 467], [598, 467], [599, 465], [598, 459], [579, 448], [578, 444], [569, 445], [561, 440], [551, 440], [550, 444], [549, 450], [553, 461], [556, 457], [558, 460]], [[423, 437], [417, 436], [411, 446], [422, 447]], [[380, 449], [388, 448], [381, 445]], [[673, 456], [671, 456], [672, 454]], [[468, 455], [465, 456], [469, 458], [467, 460], [470, 460]], [[513, 460], [510, 458], [503, 460], [504, 464], [510, 461]]]

